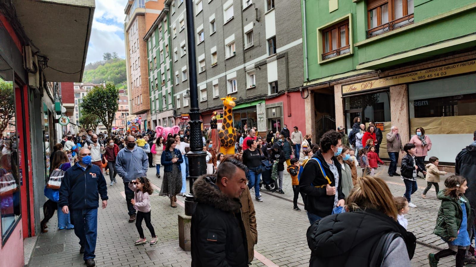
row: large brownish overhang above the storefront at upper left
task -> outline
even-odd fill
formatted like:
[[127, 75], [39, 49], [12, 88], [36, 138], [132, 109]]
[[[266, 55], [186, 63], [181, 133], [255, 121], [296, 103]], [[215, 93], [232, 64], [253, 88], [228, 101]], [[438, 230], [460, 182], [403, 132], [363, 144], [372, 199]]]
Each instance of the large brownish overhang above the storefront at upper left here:
[[43, 69], [46, 78], [55, 82], [81, 82], [94, 0], [13, 0], [13, 5], [31, 40], [31, 49], [49, 59], [48, 67]]

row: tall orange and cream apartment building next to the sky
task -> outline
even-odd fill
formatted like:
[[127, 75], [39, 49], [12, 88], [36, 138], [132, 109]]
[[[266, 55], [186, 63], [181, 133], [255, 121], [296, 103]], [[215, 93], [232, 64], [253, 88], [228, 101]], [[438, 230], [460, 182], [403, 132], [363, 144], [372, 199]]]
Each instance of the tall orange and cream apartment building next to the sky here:
[[143, 37], [163, 7], [164, 3], [161, 0], [129, 0], [124, 10], [126, 14], [124, 41], [130, 114], [142, 117], [141, 130], [151, 127], [147, 44]]

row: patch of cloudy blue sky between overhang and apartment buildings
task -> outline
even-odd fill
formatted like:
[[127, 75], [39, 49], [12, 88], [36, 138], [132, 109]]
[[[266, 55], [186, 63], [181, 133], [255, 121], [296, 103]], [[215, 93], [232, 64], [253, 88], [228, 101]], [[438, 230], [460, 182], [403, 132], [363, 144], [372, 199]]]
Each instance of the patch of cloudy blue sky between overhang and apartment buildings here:
[[127, 0], [97, 0], [86, 64], [102, 60], [105, 52], [125, 57], [124, 8]]

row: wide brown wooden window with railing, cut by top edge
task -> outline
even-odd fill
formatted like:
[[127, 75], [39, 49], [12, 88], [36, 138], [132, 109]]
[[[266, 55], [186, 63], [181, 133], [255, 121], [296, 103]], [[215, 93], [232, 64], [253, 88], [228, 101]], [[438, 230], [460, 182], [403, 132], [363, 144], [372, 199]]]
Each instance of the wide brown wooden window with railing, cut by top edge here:
[[368, 0], [367, 38], [413, 23], [414, 0]]

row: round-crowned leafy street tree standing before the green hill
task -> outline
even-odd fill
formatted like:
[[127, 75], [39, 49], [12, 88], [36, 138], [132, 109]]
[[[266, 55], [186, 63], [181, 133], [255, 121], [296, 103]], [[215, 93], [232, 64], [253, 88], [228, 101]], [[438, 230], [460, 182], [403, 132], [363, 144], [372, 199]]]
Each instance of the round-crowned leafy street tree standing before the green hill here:
[[119, 109], [119, 90], [111, 83], [106, 87], [94, 86], [83, 98], [81, 109], [89, 114], [95, 114], [99, 121], [106, 126], [108, 135], [112, 131], [112, 123]]

